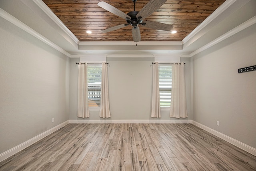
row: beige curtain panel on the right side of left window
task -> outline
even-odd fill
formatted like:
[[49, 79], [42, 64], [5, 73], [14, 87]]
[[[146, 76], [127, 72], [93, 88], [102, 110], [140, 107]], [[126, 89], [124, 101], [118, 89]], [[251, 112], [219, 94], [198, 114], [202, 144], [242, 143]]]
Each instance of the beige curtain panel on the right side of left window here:
[[108, 64], [106, 64], [105, 62], [102, 63], [100, 117], [110, 117], [110, 108], [108, 100]]

